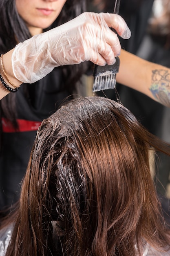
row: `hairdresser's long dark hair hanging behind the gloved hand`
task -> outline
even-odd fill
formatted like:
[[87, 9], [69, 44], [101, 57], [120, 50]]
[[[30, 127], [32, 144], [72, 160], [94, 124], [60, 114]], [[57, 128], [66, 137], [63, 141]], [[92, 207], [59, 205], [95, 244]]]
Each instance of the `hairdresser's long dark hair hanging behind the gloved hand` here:
[[[61, 25], [86, 11], [86, 0], [67, 0], [59, 17], [48, 28], [47, 31], [53, 27]], [[24, 20], [19, 16], [15, 6], [15, 0], [0, 0], [0, 53], [5, 53], [15, 47], [19, 42], [31, 37], [29, 30]], [[60, 67], [62, 69], [62, 76], [64, 85], [70, 94], [75, 90], [75, 84], [80, 79], [82, 74], [87, 70], [87, 62], [79, 65], [67, 65]], [[71, 87], [70, 84], [73, 86]], [[25, 95], [29, 98], [29, 85], [24, 85]], [[16, 107], [15, 94], [8, 94], [0, 101], [1, 112], [4, 113], [14, 127], [16, 123]], [[1, 113], [2, 114], [2, 113]]]

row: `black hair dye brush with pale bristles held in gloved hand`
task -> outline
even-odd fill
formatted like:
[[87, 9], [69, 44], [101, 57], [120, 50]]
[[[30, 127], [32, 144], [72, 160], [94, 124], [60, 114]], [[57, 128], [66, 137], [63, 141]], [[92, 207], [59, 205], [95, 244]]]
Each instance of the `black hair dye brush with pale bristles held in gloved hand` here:
[[[113, 13], [119, 13], [120, 0], [115, 0]], [[115, 31], [114, 29], [112, 29]], [[95, 65], [93, 76], [93, 92], [114, 89], [116, 86], [116, 74], [119, 72], [120, 60], [116, 57], [116, 62], [113, 65], [106, 64], [105, 66]]]

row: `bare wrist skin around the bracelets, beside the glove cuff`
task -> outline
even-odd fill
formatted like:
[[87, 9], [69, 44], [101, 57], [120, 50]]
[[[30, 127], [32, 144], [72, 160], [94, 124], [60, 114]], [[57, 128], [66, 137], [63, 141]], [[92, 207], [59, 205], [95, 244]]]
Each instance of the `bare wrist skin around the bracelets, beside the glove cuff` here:
[[[12, 63], [11, 63], [11, 56], [13, 53], [13, 49], [9, 52], [7, 52], [6, 54], [3, 55], [3, 66], [4, 66], [4, 70], [5, 73], [7, 74], [8, 78], [10, 79], [10, 81], [16, 85], [17, 87], [19, 87], [22, 82], [19, 81], [18, 79], [15, 78], [14, 74], [13, 74], [13, 69], [12, 69]], [[4, 81], [11, 87], [14, 88], [5, 78], [3, 70], [2, 70], [2, 66], [0, 65], [0, 74], [2, 75]], [[3, 97], [5, 97], [7, 94], [9, 94], [9, 90], [7, 90], [2, 83], [0, 82], [0, 99], [2, 99]]]

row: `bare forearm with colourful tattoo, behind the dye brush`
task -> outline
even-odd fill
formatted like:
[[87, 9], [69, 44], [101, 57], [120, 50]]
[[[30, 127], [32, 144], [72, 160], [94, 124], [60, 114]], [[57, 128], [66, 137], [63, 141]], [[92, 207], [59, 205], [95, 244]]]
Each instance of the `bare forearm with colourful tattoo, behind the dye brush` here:
[[145, 61], [124, 50], [117, 81], [170, 107], [170, 69]]

